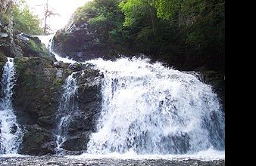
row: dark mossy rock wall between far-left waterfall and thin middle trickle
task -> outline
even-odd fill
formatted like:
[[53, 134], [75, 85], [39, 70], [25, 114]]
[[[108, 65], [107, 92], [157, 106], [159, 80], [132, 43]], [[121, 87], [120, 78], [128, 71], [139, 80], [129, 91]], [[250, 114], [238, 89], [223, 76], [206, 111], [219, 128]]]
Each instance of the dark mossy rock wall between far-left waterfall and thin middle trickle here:
[[17, 81], [13, 105], [18, 123], [27, 128], [20, 148], [22, 154], [54, 152], [55, 112], [70, 69], [58, 69], [53, 65], [47, 57], [14, 58]]

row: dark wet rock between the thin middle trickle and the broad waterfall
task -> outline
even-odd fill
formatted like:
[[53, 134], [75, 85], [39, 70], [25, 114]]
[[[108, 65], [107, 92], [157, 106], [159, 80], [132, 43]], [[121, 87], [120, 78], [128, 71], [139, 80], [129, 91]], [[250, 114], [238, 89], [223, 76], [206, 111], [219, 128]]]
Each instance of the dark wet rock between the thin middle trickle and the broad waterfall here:
[[66, 154], [85, 152], [89, 134], [95, 132], [96, 119], [101, 111], [101, 77], [98, 72], [86, 68], [74, 75], [79, 87], [75, 99], [79, 109], [71, 115], [66, 140], [61, 146]]

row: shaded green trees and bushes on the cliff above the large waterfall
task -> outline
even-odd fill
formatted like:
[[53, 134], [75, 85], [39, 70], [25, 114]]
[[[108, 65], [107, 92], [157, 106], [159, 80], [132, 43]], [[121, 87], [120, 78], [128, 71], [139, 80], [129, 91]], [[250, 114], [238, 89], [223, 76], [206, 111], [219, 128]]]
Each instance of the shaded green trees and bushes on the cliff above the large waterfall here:
[[[181, 69], [224, 71], [224, 0], [94, 0], [76, 10], [114, 52], [144, 53]], [[112, 51], [113, 52], [113, 51]]]

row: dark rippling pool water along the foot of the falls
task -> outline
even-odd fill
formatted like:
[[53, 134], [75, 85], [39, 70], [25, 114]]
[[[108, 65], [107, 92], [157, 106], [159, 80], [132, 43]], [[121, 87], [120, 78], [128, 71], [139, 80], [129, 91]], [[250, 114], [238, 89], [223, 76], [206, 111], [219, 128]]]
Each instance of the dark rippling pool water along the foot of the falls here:
[[68, 158], [64, 156], [0, 157], [0, 165], [92, 165], [92, 166], [167, 166], [167, 165], [225, 165], [224, 160], [201, 161], [197, 159], [117, 159], [117, 158]]

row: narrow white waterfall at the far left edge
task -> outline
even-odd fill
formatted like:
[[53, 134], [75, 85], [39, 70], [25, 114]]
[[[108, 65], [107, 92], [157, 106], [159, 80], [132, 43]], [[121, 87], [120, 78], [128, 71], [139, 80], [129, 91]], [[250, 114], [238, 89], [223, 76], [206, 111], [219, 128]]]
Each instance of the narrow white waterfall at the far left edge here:
[[13, 58], [8, 57], [2, 74], [2, 97], [0, 99], [0, 154], [15, 154], [20, 146], [23, 133], [17, 124], [12, 107], [12, 94], [15, 85]]

